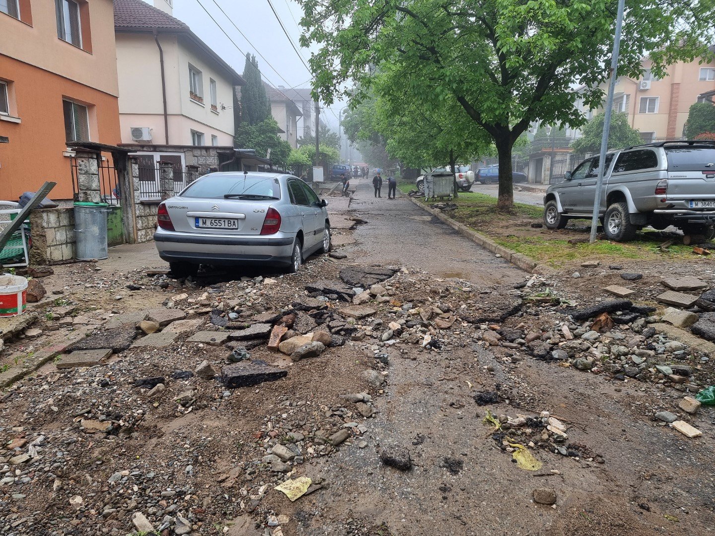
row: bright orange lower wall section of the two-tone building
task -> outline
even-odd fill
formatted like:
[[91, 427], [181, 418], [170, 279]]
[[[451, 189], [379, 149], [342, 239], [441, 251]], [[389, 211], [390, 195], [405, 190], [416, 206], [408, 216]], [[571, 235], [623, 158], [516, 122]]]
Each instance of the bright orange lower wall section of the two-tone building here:
[[0, 199], [18, 199], [45, 181], [57, 183], [51, 199], [71, 199], [62, 99], [87, 105], [90, 141], [118, 144], [117, 97], [3, 55], [0, 78], [11, 81], [11, 109], [20, 120], [0, 119], [0, 136], [10, 139], [0, 144]]

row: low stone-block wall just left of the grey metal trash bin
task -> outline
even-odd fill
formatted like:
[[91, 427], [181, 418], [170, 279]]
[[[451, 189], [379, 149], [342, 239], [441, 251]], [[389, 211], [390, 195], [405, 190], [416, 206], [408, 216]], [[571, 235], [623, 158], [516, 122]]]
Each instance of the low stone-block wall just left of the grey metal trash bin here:
[[74, 209], [39, 209], [30, 212], [32, 264], [51, 264], [74, 258]]

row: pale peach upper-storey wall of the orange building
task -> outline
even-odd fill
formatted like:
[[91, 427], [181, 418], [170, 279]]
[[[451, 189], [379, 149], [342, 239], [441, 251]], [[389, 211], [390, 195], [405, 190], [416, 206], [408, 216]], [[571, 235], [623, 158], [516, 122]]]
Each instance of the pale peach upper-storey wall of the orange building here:
[[[30, 6], [31, 25], [0, 13], [1, 54], [117, 96], [112, 0], [87, 0], [85, 4], [89, 28], [83, 34], [91, 34], [91, 39], [84, 39], [84, 48], [89, 50], [59, 39], [54, 1], [24, 4]], [[4, 76], [0, 69], [0, 77]]]

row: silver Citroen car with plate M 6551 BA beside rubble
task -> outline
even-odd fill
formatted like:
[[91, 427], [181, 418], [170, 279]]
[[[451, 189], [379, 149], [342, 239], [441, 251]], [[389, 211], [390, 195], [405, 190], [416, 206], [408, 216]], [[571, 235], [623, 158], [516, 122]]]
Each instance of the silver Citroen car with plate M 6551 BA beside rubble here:
[[326, 205], [289, 174], [210, 173], [159, 204], [154, 241], [177, 276], [199, 264], [295, 273], [310, 254], [330, 250]]

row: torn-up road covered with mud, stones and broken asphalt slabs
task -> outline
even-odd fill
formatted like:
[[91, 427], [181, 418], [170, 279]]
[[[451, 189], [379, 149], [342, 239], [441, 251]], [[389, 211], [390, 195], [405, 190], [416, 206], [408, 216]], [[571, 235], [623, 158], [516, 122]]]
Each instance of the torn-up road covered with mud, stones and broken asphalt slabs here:
[[[706, 347], [355, 183], [346, 259], [203, 286], [117, 271], [134, 307], [112, 288], [0, 394], [0, 533], [709, 533]], [[77, 329], [63, 296], [49, 333]]]

